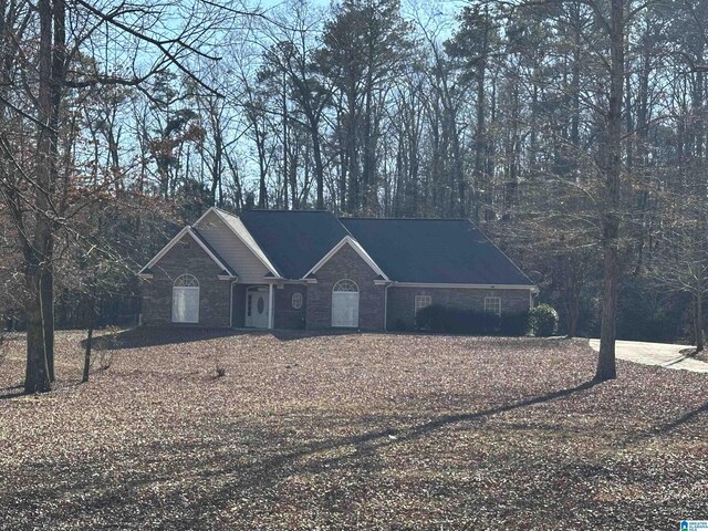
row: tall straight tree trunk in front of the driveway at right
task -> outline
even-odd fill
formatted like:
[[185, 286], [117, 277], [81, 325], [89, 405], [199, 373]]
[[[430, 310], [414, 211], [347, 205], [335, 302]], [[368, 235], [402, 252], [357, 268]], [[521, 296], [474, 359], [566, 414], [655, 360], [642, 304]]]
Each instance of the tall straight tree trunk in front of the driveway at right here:
[[603, 248], [603, 301], [600, 355], [595, 379], [603, 382], [617, 376], [615, 364], [615, 340], [617, 319], [618, 267], [617, 247], [620, 237], [620, 177], [622, 171], [622, 93], [624, 85], [624, 0], [612, 0], [611, 14], [611, 70], [610, 108], [607, 113], [607, 165], [605, 204], [602, 218]]

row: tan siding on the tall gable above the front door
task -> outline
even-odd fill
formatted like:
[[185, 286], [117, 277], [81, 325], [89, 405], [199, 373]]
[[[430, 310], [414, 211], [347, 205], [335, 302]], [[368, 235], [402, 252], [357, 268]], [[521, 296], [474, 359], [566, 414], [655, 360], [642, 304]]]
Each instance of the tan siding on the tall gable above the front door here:
[[266, 266], [239, 240], [215, 212], [197, 226], [199, 233], [239, 275], [239, 283], [258, 284], [269, 272]]

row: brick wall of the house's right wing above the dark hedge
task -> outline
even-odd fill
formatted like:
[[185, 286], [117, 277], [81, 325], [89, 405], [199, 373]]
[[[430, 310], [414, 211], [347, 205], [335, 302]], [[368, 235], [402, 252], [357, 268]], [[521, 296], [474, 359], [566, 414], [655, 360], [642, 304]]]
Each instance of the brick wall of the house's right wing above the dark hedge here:
[[486, 296], [501, 298], [501, 313], [521, 313], [530, 308], [529, 290], [487, 290], [469, 288], [388, 288], [387, 329], [415, 326], [416, 295], [430, 295], [433, 304], [485, 311]]

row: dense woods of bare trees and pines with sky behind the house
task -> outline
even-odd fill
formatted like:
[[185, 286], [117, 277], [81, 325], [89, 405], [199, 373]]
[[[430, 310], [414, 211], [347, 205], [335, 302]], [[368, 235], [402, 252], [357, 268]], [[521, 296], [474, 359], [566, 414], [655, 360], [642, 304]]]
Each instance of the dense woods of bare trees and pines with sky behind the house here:
[[612, 250], [618, 336], [702, 344], [708, 1], [460, 6], [0, 0], [7, 325], [134, 324], [215, 205], [470, 218], [571, 335]]

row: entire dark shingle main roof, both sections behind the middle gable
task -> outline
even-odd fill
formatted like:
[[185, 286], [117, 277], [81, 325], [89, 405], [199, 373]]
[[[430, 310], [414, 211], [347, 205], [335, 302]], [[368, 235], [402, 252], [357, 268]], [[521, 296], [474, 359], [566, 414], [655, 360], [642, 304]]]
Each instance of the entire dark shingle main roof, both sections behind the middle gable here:
[[249, 210], [240, 218], [288, 279], [303, 278], [348, 235], [396, 282], [533, 285], [467, 219], [337, 219], [321, 210]]

